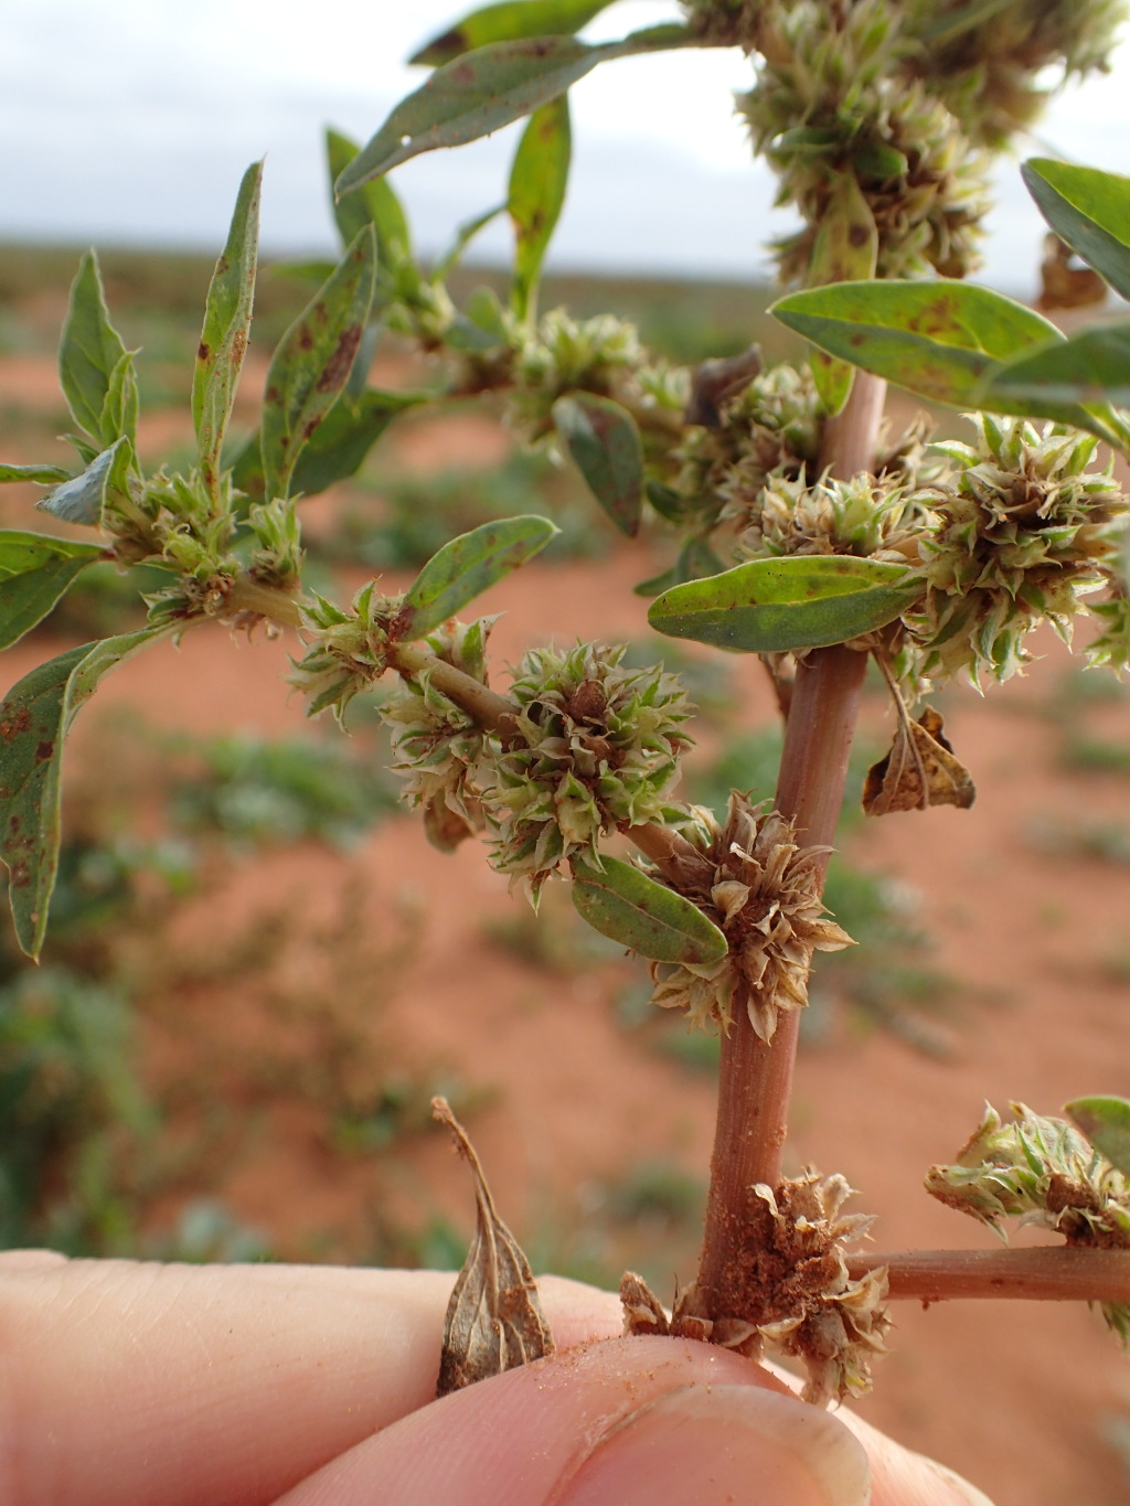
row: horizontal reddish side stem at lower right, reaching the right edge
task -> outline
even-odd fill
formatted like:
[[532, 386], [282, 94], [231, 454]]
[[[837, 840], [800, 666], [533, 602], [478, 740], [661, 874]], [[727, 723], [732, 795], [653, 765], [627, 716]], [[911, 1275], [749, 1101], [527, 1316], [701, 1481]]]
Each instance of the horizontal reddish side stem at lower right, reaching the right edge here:
[[1130, 1303], [1130, 1250], [901, 1250], [848, 1259], [853, 1279], [883, 1265], [887, 1295], [921, 1303], [958, 1297]]

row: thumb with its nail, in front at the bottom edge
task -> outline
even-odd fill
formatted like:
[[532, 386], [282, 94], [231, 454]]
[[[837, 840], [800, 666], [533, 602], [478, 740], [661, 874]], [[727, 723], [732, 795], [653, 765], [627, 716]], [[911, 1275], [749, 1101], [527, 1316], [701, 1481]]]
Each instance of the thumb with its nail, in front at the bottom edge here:
[[704, 1343], [639, 1337], [457, 1392], [351, 1449], [283, 1503], [865, 1506], [868, 1491], [860, 1443], [774, 1376]]

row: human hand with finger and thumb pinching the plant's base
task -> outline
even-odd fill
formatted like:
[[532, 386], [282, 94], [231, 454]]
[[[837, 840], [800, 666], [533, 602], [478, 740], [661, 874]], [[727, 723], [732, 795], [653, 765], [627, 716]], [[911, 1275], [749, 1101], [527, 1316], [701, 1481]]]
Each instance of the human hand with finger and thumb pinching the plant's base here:
[[560, 1352], [431, 1402], [449, 1274], [0, 1256], [0, 1501], [988, 1506], [738, 1355], [591, 1343], [618, 1300], [538, 1285]]

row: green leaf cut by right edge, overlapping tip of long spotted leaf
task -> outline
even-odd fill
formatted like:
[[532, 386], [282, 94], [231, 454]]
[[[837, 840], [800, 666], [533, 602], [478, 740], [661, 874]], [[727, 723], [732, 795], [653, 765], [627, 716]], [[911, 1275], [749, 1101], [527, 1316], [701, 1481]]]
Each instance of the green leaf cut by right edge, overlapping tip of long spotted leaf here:
[[1070, 340], [1044, 346], [982, 384], [982, 407], [1014, 413], [1071, 404], [1130, 405], [1130, 324], [1092, 325]]

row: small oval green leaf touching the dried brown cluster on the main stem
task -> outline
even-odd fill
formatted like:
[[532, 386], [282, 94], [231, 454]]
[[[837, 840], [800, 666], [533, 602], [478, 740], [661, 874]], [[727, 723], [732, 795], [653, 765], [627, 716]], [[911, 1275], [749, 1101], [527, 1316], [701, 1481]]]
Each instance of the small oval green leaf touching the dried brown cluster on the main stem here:
[[698, 905], [630, 863], [601, 864], [573, 861], [573, 904], [594, 931], [655, 962], [722, 961], [726, 938]]

